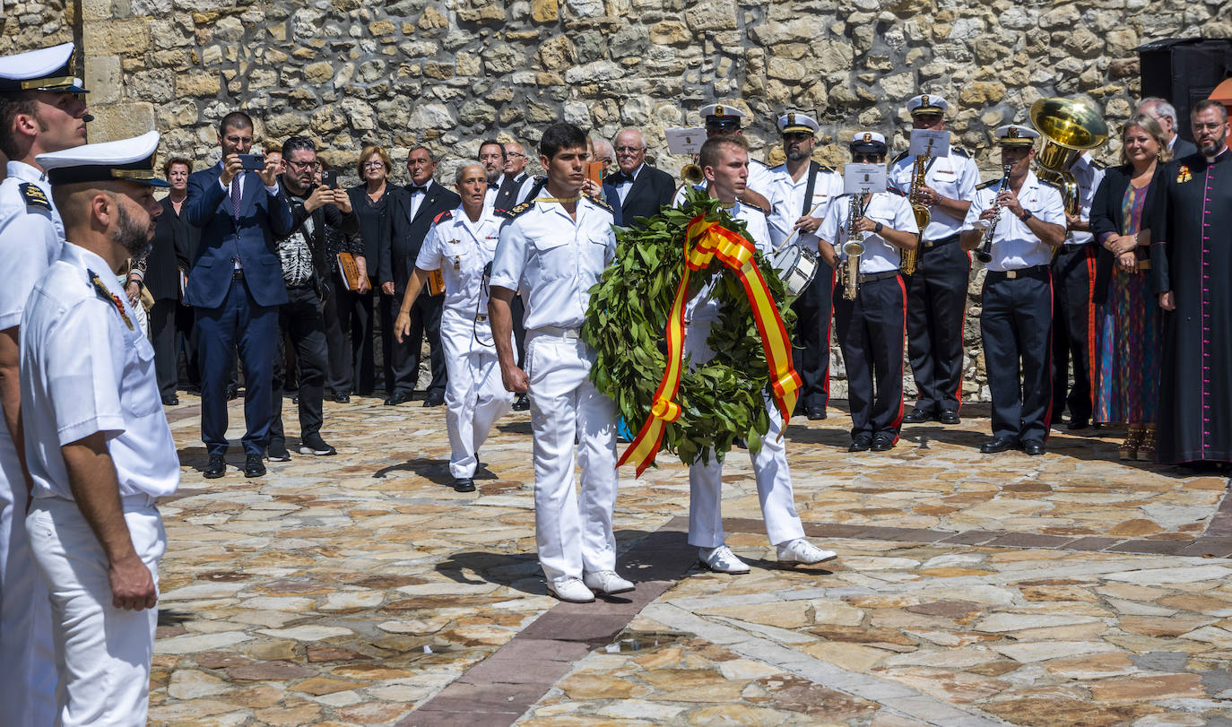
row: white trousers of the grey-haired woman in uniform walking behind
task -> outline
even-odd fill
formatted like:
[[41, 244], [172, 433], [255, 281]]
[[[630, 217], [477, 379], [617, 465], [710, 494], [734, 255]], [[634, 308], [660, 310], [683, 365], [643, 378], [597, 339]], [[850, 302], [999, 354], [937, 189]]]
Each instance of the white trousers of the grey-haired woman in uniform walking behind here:
[[441, 345], [445, 349], [445, 428], [450, 434], [450, 474], [474, 477], [479, 461], [476, 453], [488, 439], [492, 424], [514, 403], [500, 381], [496, 349], [487, 323], [476, 324], [474, 315], [462, 317], [451, 311], [441, 314]]

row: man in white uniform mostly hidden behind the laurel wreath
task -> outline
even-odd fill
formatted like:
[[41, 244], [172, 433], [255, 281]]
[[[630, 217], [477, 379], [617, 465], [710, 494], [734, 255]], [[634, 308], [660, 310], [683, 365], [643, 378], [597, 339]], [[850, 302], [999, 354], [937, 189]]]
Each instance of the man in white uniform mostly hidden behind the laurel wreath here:
[[[702, 144], [699, 161], [710, 193], [727, 209], [728, 214], [745, 223], [753, 244], [769, 254], [770, 230], [766, 211], [750, 207], [737, 200], [744, 191], [749, 170], [749, 147], [744, 137], [728, 136], [707, 139]], [[685, 307], [685, 356], [694, 366], [715, 357], [706, 344], [711, 327], [722, 309], [710, 297], [710, 286], [702, 288]], [[770, 542], [777, 546], [781, 563], [819, 563], [837, 556], [804, 540], [804, 527], [796, 513], [787, 469], [786, 442], [780, 437], [782, 416], [769, 398], [770, 430], [761, 437], [761, 450], [750, 455], [753, 473], [758, 482], [758, 499], [766, 524]], [[736, 557], [726, 545], [722, 514], [723, 463], [710, 453], [708, 463], [699, 460], [689, 467], [689, 545], [697, 546], [700, 562], [719, 573], [748, 573], [749, 567]]]

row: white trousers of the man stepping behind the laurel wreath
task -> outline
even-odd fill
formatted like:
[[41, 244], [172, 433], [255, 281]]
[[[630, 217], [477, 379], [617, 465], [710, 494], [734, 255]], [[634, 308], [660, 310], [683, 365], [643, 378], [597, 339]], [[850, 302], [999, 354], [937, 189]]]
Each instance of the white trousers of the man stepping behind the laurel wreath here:
[[[715, 351], [706, 345], [710, 328], [711, 322], [697, 320], [690, 323], [685, 331], [685, 354], [692, 356], [694, 366], [715, 357]], [[779, 545], [803, 537], [804, 527], [796, 513], [786, 442], [779, 437], [782, 415], [769, 398], [766, 412], [770, 414], [770, 430], [761, 437], [761, 451], [750, 453], [749, 458], [753, 461], [766, 535], [772, 545]], [[715, 452], [708, 452], [708, 462], [703, 465], [699, 460], [689, 467], [689, 545], [701, 548], [718, 547], [726, 537], [722, 514], [723, 463], [717, 461]]]

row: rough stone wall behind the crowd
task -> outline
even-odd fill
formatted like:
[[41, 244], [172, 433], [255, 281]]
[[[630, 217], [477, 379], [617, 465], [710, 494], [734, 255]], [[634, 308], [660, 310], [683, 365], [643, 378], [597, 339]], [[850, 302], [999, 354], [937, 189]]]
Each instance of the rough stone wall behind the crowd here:
[[[1137, 95], [1135, 46], [1232, 37], [1223, 0], [58, 2], [6, 5], [0, 49], [68, 39], [76, 27], [92, 140], [156, 127], [166, 152], [205, 165], [217, 160], [218, 120], [244, 108], [262, 140], [317, 138], [350, 181], [367, 143], [399, 165], [425, 144], [447, 179], [482, 138], [533, 144], [561, 117], [609, 138], [639, 127], [674, 173], [684, 160], [665, 154], [663, 129], [696, 124], [713, 101], [752, 113], [754, 155], [771, 163], [781, 159], [774, 116], [816, 110], [817, 156], [841, 164], [856, 128], [902, 148], [902, 102], [920, 91], [951, 101], [949, 128], [992, 176], [988, 131], [1025, 121], [1036, 99], [1087, 99], [1115, 127]], [[1101, 155], [1116, 153], [1112, 143]], [[967, 319], [967, 393], [986, 398], [977, 322], [978, 307]]]

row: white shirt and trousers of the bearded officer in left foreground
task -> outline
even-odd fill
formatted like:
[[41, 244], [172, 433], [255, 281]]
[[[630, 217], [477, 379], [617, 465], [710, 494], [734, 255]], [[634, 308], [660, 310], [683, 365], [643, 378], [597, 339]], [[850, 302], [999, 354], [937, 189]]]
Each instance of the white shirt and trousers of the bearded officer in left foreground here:
[[31, 550], [52, 598], [57, 725], [145, 725], [158, 610], [112, 606], [108, 561], [73, 499], [60, 447], [105, 433], [133, 548], [158, 583], [166, 536], [154, 498], [175, 492], [180, 462], [154, 380], [154, 349], [102, 258], [65, 244], [21, 320], [26, 461], [34, 483]]

